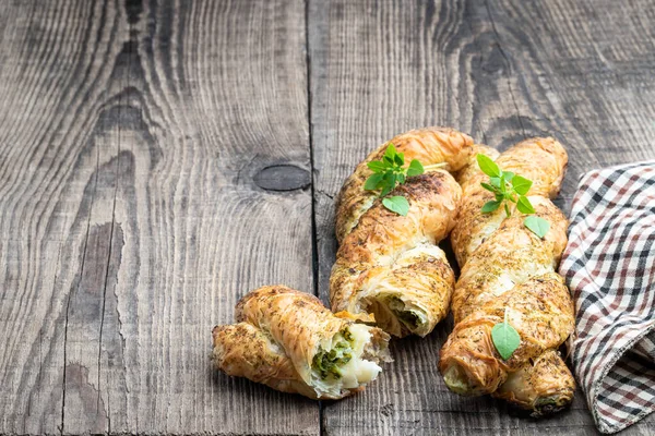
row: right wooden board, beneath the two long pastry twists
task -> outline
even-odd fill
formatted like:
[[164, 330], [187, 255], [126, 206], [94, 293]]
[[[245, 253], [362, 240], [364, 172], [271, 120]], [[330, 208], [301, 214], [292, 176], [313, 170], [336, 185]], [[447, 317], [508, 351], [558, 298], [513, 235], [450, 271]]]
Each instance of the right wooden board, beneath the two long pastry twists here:
[[[310, 1], [309, 46], [319, 291], [334, 261], [333, 197], [394, 134], [451, 125], [505, 149], [534, 135], [568, 148], [565, 210], [584, 171], [655, 158], [653, 4], [633, 1]], [[646, 28], [648, 27], [648, 28]], [[367, 390], [325, 404], [330, 435], [595, 434], [582, 392], [535, 421], [490, 398], [448, 391], [437, 371], [451, 330], [394, 344]], [[627, 434], [648, 434], [653, 416]]]

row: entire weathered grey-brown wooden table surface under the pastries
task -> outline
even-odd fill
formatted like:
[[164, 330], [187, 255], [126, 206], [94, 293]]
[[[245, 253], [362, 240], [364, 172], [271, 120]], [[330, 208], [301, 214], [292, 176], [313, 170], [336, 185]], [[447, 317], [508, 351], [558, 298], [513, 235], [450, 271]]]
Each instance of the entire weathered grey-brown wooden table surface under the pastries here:
[[655, 158], [655, 2], [2, 1], [0, 433], [595, 434], [449, 392], [448, 323], [340, 402], [212, 370], [247, 291], [326, 301], [342, 182], [425, 125], [556, 136], [568, 209]]

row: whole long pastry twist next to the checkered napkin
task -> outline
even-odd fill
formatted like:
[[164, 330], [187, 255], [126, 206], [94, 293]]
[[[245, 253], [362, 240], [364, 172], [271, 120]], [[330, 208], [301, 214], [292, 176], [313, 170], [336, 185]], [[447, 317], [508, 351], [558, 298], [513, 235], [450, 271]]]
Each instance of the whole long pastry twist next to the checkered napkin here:
[[[439, 368], [450, 389], [463, 395], [492, 393], [533, 414], [551, 413], [572, 401], [575, 383], [557, 353], [574, 328], [573, 303], [556, 267], [567, 244], [568, 222], [550, 202], [560, 189], [567, 154], [552, 138], [524, 141], [499, 155], [475, 146], [469, 165], [457, 174], [463, 199], [451, 234], [462, 267], [452, 301], [455, 328], [441, 350]], [[505, 218], [499, 208], [483, 214], [493, 194], [475, 155], [495, 159], [503, 171], [533, 181], [528, 198], [536, 215], [550, 223], [544, 239], [523, 225], [525, 216]], [[503, 322], [519, 331], [521, 344], [504, 361], [491, 340]]]

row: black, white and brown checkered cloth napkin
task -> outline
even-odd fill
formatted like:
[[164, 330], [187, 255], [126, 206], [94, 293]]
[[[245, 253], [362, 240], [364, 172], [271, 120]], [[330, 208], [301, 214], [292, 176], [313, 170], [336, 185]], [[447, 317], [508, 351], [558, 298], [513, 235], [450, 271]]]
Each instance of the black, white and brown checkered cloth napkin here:
[[655, 161], [582, 177], [560, 272], [575, 375], [598, 429], [619, 432], [655, 410]]

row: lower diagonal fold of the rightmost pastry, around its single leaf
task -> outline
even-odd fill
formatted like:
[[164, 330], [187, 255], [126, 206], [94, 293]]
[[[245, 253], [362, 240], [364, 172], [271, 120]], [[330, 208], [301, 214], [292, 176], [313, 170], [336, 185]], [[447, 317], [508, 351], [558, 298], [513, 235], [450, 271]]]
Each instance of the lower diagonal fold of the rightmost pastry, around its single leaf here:
[[[521, 336], [521, 344], [507, 361], [491, 340], [491, 329], [503, 322], [505, 312], [508, 323]], [[536, 276], [455, 324], [441, 350], [439, 368], [457, 393], [491, 393], [510, 373], [564, 342], [573, 327], [573, 304], [562, 277], [557, 272]]]

